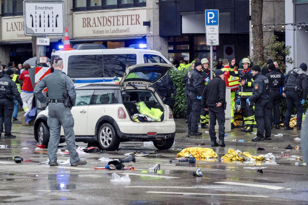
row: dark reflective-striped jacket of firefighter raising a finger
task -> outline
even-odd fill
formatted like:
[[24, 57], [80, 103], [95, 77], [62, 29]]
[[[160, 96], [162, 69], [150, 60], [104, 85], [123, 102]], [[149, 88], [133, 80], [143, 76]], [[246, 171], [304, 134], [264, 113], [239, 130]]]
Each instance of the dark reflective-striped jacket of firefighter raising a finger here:
[[230, 66], [229, 74], [234, 77], [239, 77], [240, 81], [245, 82], [244, 86], [240, 84], [238, 94], [243, 99], [249, 98], [252, 95], [252, 90], [253, 90], [252, 87], [253, 75], [251, 74], [251, 69], [248, 68], [246, 71], [242, 70], [241, 72], [236, 74], [234, 71], [234, 66]]

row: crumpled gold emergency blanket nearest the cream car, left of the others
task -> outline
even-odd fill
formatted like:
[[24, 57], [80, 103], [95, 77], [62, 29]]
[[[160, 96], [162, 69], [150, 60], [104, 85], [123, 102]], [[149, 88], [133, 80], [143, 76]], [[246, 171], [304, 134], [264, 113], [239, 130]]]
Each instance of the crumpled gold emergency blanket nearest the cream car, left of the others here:
[[195, 158], [217, 158], [218, 155], [211, 148], [203, 148], [203, 147], [188, 147], [183, 149], [180, 153], [176, 155], [176, 157], [190, 157], [193, 156]]

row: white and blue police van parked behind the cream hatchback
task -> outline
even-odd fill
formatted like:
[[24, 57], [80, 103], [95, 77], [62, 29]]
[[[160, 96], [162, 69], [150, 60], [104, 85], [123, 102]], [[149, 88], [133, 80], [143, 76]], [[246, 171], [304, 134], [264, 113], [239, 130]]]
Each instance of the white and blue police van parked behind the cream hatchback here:
[[56, 50], [51, 53], [51, 63], [60, 57], [65, 72], [77, 86], [83, 83], [111, 82], [122, 77], [127, 65], [141, 63], [168, 63], [160, 52], [144, 49], [146, 44], [129, 48], [106, 49], [102, 44], [76, 44], [74, 50]]

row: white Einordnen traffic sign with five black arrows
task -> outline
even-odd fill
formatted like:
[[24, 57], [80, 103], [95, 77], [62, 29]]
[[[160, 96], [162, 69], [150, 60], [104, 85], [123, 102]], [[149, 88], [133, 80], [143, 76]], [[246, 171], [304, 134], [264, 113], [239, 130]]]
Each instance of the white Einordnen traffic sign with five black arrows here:
[[64, 2], [24, 1], [25, 35], [64, 35]]

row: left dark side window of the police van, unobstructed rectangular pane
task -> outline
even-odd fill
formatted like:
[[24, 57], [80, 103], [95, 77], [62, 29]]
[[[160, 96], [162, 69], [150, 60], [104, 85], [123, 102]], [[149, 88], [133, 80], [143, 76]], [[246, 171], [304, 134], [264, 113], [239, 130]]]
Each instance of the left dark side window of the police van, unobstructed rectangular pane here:
[[71, 55], [68, 57], [67, 75], [70, 78], [102, 78], [102, 55]]

